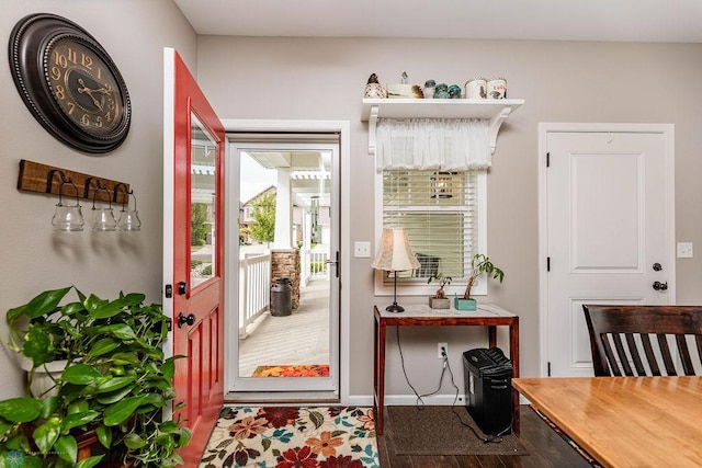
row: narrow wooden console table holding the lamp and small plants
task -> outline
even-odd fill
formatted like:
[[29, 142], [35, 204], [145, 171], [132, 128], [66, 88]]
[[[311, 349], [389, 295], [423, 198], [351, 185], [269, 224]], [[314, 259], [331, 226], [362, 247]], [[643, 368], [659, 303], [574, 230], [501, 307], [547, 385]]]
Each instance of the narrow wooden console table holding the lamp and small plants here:
[[[478, 310], [431, 309], [429, 306], [405, 306], [399, 313], [385, 308], [375, 309], [375, 338], [373, 352], [373, 410], [375, 431], [383, 434], [383, 412], [385, 411], [385, 333], [387, 327], [487, 327], [488, 344], [497, 346], [497, 327], [509, 327], [509, 356], [519, 377], [519, 317], [494, 305], [479, 305]], [[513, 429], [519, 434], [519, 393], [512, 389]]]

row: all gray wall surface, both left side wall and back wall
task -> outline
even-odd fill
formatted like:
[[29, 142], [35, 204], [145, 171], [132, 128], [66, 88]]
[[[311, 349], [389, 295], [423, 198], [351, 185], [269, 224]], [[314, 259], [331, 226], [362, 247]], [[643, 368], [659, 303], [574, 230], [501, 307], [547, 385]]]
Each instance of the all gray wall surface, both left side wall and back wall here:
[[[600, 44], [512, 41], [297, 39], [197, 37], [170, 0], [0, 0], [0, 36], [33, 12], [65, 15], [88, 28], [110, 52], [125, 77], [134, 107], [125, 144], [95, 157], [71, 150], [29, 114], [0, 47], [0, 310], [37, 292], [76, 284], [111, 296], [145, 292], [160, 300], [162, 206], [162, 47], [180, 50], [223, 118], [348, 119], [351, 122], [351, 190], [343, 201], [353, 227], [351, 243], [373, 240], [373, 160], [367, 124], [361, 123], [363, 87], [371, 72], [383, 82], [406, 70], [415, 82], [432, 78], [463, 84], [476, 75], [505, 76], [509, 95], [526, 103], [502, 126], [488, 182], [490, 256], [507, 272], [490, 284], [485, 301], [521, 317], [522, 374], [536, 375], [540, 346], [537, 303], [537, 134], [540, 122], [641, 122], [676, 125], [677, 239], [702, 246], [702, 45]], [[20, 193], [18, 162], [30, 159], [133, 184], [144, 222], [134, 238], [75, 237], [52, 232], [55, 197]], [[350, 227], [342, 227], [350, 229]], [[351, 249], [352, 246], [344, 246]], [[351, 393], [371, 395], [373, 296], [367, 259], [352, 259], [350, 310]], [[679, 260], [678, 303], [702, 303], [699, 258]], [[404, 303], [424, 297], [401, 298]], [[0, 320], [4, 333], [4, 320]], [[440, 374], [435, 343], [449, 342], [456, 384], [461, 352], [482, 345], [480, 330], [403, 330], [407, 370], [419, 391], [433, 390]], [[390, 333], [392, 334], [392, 333]], [[505, 335], [501, 334], [502, 340]], [[394, 343], [394, 336], [390, 336]], [[388, 356], [388, 393], [408, 395], [396, 347]], [[5, 357], [2, 357], [5, 356]], [[22, 392], [22, 375], [0, 352], [0, 398]], [[451, 393], [444, 386], [443, 393]]]

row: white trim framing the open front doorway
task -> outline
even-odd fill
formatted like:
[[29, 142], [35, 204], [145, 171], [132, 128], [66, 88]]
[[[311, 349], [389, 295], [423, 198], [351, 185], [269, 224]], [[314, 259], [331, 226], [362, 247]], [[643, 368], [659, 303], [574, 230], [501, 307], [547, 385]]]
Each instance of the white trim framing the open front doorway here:
[[[222, 119], [225, 134], [229, 132], [307, 132], [307, 133], [339, 133], [340, 134], [340, 191], [341, 201], [350, 199], [350, 169], [351, 169], [351, 125], [349, 121], [249, 121], [249, 119]], [[349, 209], [341, 209], [341, 239], [340, 239], [340, 255], [341, 255], [341, 284], [340, 284], [340, 305], [339, 305], [339, 327], [341, 333], [339, 335], [339, 400], [341, 404], [350, 404], [349, 391], [350, 391], [350, 288], [343, 287], [343, 281], [348, 281], [351, 277], [350, 267], [350, 230], [351, 216]], [[227, 253], [225, 252], [225, 256]], [[226, 297], [235, 297], [234, 292], [229, 287], [225, 292]], [[236, 330], [230, 330], [231, 321], [227, 321], [226, 333], [231, 336], [237, 336]], [[233, 333], [233, 334], [231, 334]], [[225, 340], [225, 355], [229, 355], [228, 342]], [[225, 366], [225, 388], [230, 388], [229, 376]]]

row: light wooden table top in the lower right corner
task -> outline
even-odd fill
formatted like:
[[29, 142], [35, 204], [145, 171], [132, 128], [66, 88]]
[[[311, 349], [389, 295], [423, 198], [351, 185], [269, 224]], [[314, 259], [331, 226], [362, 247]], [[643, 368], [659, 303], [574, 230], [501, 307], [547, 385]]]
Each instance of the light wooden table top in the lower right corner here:
[[702, 377], [514, 378], [607, 467], [702, 466]]

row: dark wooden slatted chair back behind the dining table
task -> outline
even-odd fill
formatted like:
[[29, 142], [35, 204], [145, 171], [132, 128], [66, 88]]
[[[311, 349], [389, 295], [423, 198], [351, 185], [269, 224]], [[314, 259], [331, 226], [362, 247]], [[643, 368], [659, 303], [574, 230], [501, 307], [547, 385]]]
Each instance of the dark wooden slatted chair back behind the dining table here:
[[584, 305], [582, 309], [597, 377], [675, 376], [676, 362], [686, 375], [695, 375], [695, 367], [702, 366], [702, 306]]

